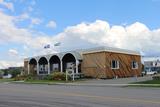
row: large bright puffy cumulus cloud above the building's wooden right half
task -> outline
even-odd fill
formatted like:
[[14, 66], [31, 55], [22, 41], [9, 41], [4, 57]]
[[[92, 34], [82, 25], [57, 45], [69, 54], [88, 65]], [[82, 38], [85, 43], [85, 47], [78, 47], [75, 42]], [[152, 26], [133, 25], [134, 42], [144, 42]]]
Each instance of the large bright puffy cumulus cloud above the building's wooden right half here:
[[160, 29], [150, 30], [140, 22], [123, 27], [109, 26], [108, 22], [97, 20], [93, 23], [67, 27], [55, 39], [62, 42], [62, 47], [83, 48], [105, 45], [154, 55], [160, 54], [160, 36], [158, 35], [160, 35]]

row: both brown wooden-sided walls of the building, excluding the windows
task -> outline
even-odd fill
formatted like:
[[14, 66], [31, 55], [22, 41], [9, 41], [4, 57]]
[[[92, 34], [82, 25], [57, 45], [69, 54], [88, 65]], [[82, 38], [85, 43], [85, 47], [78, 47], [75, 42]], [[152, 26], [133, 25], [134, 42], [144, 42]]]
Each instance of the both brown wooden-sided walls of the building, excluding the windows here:
[[[111, 61], [119, 61], [119, 69], [111, 68]], [[132, 69], [132, 61], [138, 63], [138, 69]], [[94, 78], [131, 77], [141, 74], [141, 56], [114, 52], [83, 54], [82, 73]]]

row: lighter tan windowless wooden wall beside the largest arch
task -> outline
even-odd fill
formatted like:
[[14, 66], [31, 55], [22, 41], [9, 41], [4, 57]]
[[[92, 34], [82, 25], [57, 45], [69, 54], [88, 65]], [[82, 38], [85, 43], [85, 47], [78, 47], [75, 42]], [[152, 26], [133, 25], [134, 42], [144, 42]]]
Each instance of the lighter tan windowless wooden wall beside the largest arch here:
[[83, 55], [82, 73], [94, 78], [106, 78], [105, 52], [97, 52]]

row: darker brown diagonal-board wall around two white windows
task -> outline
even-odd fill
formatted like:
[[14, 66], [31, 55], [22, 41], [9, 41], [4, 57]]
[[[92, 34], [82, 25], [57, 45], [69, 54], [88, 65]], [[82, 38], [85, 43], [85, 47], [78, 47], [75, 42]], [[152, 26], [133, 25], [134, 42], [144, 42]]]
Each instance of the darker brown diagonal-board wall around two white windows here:
[[[120, 53], [112, 53], [106, 52], [106, 77], [132, 77], [132, 76], [140, 76], [141, 74], [141, 56], [138, 55], [128, 55], [128, 54], [120, 54]], [[119, 61], [119, 69], [111, 68], [111, 61], [117, 60]], [[132, 68], [132, 61], [136, 61], [138, 63], [138, 69]]]

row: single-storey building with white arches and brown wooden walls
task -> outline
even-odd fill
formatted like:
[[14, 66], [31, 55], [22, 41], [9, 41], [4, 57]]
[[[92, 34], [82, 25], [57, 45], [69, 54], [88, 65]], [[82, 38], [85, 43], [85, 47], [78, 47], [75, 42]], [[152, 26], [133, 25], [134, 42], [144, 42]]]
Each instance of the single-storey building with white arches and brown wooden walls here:
[[24, 59], [26, 74], [43, 75], [66, 69], [94, 78], [140, 76], [141, 55], [136, 51], [96, 47]]

